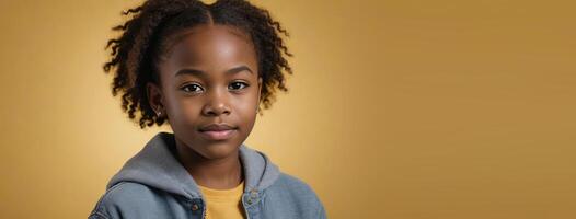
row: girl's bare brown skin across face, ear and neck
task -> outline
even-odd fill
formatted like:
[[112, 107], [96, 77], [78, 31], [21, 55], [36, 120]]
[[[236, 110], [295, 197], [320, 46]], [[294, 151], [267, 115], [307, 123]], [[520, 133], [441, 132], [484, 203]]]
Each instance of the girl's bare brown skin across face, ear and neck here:
[[[218, 24], [175, 34], [158, 62], [160, 87], [147, 85], [149, 103], [175, 135], [177, 159], [201, 186], [229, 189], [243, 180], [239, 148], [254, 127], [262, 79], [250, 36]], [[247, 69], [228, 72], [245, 66]], [[195, 69], [197, 74], [176, 72]], [[252, 72], [251, 72], [252, 71]], [[199, 128], [226, 123], [237, 129], [227, 140], [204, 138]]]

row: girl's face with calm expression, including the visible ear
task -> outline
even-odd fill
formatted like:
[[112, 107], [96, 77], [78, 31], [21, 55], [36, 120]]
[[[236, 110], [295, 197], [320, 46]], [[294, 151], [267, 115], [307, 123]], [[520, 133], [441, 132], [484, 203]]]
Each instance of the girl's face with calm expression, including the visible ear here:
[[[253, 44], [226, 25], [198, 25], [175, 38], [158, 64], [162, 87], [149, 84], [150, 104], [168, 114], [184, 150], [206, 159], [229, 157], [256, 119], [262, 80]], [[209, 131], [210, 125], [226, 130]]]

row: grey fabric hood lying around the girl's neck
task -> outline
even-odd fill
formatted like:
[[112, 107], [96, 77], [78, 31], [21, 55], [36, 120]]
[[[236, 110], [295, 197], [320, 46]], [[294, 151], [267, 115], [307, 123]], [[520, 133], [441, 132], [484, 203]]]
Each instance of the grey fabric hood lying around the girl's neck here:
[[[175, 151], [174, 134], [157, 134], [112, 177], [106, 189], [120, 182], [133, 182], [191, 199], [201, 197], [198, 185], [171, 151]], [[242, 143], [239, 153], [244, 171], [244, 193], [263, 191], [280, 175], [278, 166], [263, 152]]]

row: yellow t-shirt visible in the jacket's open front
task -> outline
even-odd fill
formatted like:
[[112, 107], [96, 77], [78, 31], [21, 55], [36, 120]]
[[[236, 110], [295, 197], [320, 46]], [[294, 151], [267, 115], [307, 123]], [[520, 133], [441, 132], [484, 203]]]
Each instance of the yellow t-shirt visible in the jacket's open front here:
[[242, 193], [244, 181], [235, 188], [214, 189], [198, 185], [206, 199], [207, 219], [244, 219]]

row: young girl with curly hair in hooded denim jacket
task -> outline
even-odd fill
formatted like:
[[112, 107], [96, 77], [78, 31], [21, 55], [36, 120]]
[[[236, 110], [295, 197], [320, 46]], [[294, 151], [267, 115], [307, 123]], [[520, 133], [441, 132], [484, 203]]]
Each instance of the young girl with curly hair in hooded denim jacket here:
[[280, 24], [243, 0], [149, 0], [124, 14], [106, 47], [112, 93], [141, 128], [174, 134], [128, 160], [90, 218], [326, 218], [308, 184], [243, 143], [260, 104], [287, 90]]

